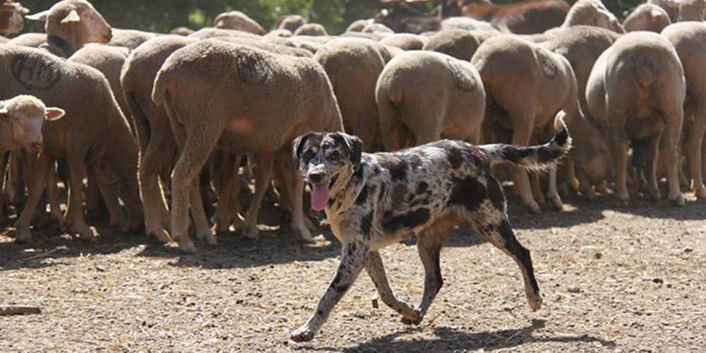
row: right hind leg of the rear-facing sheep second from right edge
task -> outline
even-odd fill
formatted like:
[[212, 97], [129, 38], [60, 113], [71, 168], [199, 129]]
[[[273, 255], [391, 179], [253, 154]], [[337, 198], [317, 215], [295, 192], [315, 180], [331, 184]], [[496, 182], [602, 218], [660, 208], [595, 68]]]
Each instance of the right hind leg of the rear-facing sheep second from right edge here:
[[662, 133], [664, 146], [666, 147], [666, 163], [664, 165], [667, 170], [666, 179], [669, 182], [669, 201], [674, 203], [674, 205], [683, 206], [686, 204], [686, 201], [684, 201], [684, 196], [679, 187], [678, 172], [681, 164], [679, 162], [681, 160], [679, 158], [679, 143], [681, 140], [681, 126], [684, 117], [683, 105], [675, 104], [674, 107], [665, 109], [663, 116], [669, 117], [669, 121], [664, 124], [664, 132]]

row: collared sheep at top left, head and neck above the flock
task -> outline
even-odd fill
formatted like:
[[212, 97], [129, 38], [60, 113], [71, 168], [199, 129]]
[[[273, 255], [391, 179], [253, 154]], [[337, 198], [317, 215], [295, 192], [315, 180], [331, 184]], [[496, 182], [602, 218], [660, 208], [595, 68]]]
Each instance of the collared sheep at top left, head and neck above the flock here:
[[47, 43], [42, 47], [57, 56], [68, 58], [87, 43], [107, 43], [112, 38], [110, 25], [85, 0], [62, 0], [26, 18], [45, 22]]

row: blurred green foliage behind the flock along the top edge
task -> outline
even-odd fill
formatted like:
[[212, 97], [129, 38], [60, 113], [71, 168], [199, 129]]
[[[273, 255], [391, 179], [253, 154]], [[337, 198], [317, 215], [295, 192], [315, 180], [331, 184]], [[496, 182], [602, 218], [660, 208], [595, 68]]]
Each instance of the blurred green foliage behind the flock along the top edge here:
[[[58, 0], [22, 0], [32, 13], [43, 11]], [[212, 25], [213, 18], [224, 11], [247, 13], [264, 28], [272, 28], [280, 16], [298, 14], [310, 22], [321, 23], [332, 33], [345, 30], [360, 18], [372, 18], [384, 6], [379, 0], [90, 0], [115, 28], [169, 32], [186, 25], [198, 29]], [[568, 2], [573, 2], [570, 0]], [[419, 4], [431, 8], [433, 3]], [[517, 2], [496, 0], [497, 4]], [[604, 0], [618, 17], [642, 3], [640, 0]], [[25, 21], [25, 32], [42, 31], [42, 25]]]

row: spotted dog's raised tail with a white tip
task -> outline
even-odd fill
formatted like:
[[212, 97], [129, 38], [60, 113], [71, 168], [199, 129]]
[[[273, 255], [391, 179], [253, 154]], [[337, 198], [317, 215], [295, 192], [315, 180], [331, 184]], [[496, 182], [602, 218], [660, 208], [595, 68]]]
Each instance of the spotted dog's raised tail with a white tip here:
[[536, 171], [554, 169], [571, 148], [571, 136], [563, 122], [565, 115], [564, 112], [557, 114], [554, 124], [557, 133], [544, 145], [517, 146], [498, 143], [481, 145], [478, 148], [485, 152], [490, 164], [511, 162]]

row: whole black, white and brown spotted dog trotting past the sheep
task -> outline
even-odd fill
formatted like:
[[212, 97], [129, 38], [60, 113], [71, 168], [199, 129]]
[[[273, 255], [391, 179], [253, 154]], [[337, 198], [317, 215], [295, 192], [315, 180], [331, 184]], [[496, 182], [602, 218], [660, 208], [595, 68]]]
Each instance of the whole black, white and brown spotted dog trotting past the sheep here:
[[[325, 210], [342, 243], [336, 274], [309, 321], [292, 333], [312, 340], [333, 306], [363, 268], [382, 301], [418, 324], [443, 285], [439, 251], [450, 230], [465, 222], [520, 266], [533, 310], [542, 306], [530, 251], [515, 239], [505, 195], [491, 175], [498, 162], [549, 169], [570, 148], [566, 128], [546, 145], [480, 145], [441, 140], [393, 153], [362, 153], [361, 140], [345, 133], [307, 133], [294, 140], [294, 162], [311, 186], [311, 208]], [[424, 295], [415, 309], [395, 296], [378, 250], [417, 236], [424, 265]]]

